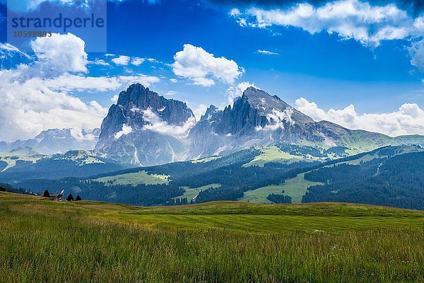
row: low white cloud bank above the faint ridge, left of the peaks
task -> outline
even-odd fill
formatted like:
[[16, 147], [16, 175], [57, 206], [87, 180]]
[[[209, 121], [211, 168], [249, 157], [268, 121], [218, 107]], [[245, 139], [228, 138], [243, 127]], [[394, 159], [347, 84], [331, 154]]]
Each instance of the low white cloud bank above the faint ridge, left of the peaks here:
[[45, 129], [100, 126], [107, 108], [54, 91], [35, 79], [14, 81], [20, 71], [22, 67], [0, 71], [0, 140], [28, 139]]

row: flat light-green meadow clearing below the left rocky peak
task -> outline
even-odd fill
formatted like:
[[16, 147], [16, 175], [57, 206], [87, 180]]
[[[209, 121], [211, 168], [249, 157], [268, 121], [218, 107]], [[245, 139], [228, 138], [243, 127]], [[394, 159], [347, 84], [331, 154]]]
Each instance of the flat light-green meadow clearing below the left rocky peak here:
[[[126, 173], [122, 175], [107, 176], [95, 179], [98, 182], [105, 183], [106, 185], [160, 185], [169, 183], [169, 176], [151, 174], [146, 171], [136, 173]], [[109, 183], [108, 183], [109, 182]]]

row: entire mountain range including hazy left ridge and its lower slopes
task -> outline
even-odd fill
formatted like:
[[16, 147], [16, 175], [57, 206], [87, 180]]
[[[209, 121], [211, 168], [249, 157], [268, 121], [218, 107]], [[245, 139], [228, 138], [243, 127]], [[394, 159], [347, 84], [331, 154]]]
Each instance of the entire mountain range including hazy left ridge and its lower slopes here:
[[101, 129], [72, 131], [48, 129], [34, 139], [0, 142], [0, 181], [83, 177], [218, 158], [247, 149], [255, 154], [243, 166], [291, 166], [388, 145], [424, 145], [423, 136], [388, 137], [315, 122], [277, 96], [253, 87], [223, 110], [211, 105], [196, 122], [186, 103], [136, 83], [119, 93]]

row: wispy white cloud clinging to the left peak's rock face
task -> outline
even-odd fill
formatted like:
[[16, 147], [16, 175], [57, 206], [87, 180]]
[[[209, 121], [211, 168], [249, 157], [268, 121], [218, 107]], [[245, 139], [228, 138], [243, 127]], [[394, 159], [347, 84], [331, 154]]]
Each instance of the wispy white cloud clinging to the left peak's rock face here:
[[168, 125], [167, 122], [160, 119], [155, 112], [151, 109], [142, 110], [143, 119], [148, 122], [148, 125], [144, 125], [144, 130], [150, 130], [158, 132], [159, 134], [165, 134], [172, 137], [187, 137], [190, 129], [196, 125], [196, 118], [190, 117], [182, 126]]

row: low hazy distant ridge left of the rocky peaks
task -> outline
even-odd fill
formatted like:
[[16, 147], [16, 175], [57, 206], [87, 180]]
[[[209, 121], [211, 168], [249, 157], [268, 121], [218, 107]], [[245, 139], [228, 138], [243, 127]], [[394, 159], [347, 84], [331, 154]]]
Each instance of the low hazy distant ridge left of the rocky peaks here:
[[30, 147], [40, 154], [63, 154], [71, 150], [94, 149], [98, 141], [100, 129], [82, 130], [72, 133], [73, 129], [47, 129], [33, 139], [0, 141], [0, 151]]

